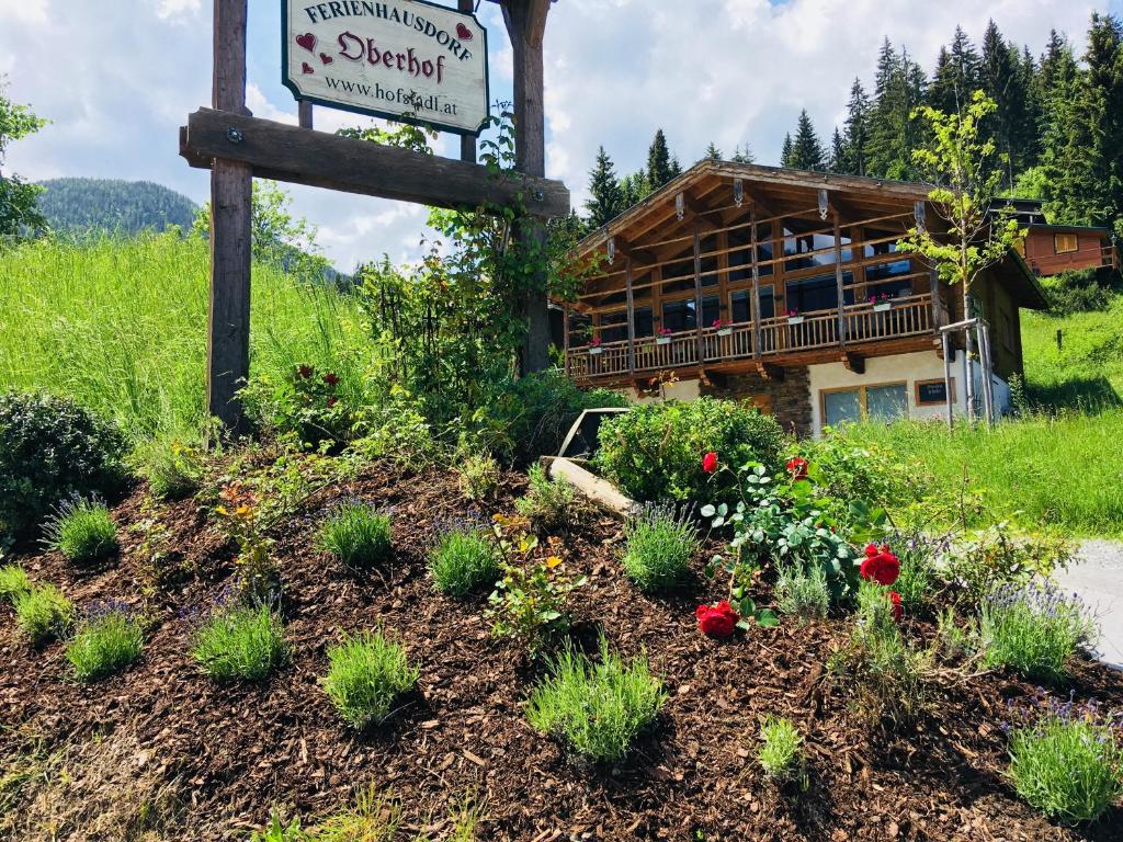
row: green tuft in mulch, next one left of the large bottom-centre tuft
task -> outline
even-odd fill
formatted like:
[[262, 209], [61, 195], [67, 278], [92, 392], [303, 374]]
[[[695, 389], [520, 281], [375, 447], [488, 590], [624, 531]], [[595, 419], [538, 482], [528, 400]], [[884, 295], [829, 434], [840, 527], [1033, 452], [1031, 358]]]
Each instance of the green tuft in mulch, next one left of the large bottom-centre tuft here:
[[405, 650], [381, 632], [344, 635], [328, 650], [328, 661], [323, 689], [339, 715], [359, 730], [389, 719], [394, 701], [413, 689], [420, 675]]

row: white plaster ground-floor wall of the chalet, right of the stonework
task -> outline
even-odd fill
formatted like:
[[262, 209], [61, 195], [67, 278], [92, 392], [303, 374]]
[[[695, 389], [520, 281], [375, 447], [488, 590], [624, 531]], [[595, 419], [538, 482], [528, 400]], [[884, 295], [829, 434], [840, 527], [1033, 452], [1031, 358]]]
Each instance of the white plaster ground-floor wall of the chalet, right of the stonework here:
[[[943, 379], [943, 360], [935, 350], [900, 354], [893, 357], [869, 357], [866, 359], [866, 373], [856, 374], [841, 363], [823, 363], [809, 366], [811, 372], [811, 421], [815, 436], [823, 432], [822, 390], [847, 388], [855, 386], [876, 386], [882, 383], [905, 383], [909, 397], [909, 418], [939, 419], [944, 418], [944, 404], [916, 405], [916, 381]], [[977, 375], [976, 375], [977, 376]], [[962, 414], [965, 401], [964, 355], [959, 354], [951, 364], [951, 377], [955, 381], [955, 404], [957, 413]], [[1005, 386], [1005, 384], [1003, 384]], [[1007, 403], [1010, 390], [1006, 388]], [[998, 388], [995, 387], [997, 403]]]

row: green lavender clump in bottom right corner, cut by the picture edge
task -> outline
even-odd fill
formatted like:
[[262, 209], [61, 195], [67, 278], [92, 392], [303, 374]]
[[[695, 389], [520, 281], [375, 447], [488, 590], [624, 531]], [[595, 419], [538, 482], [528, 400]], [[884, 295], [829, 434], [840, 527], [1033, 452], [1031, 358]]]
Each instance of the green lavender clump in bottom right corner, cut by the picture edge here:
[[1123, 745], [1115, 730], [1080, 712], [1050, 710], [1015, 729], [1010, 759], [1017, 794], [1066, 824], [1094, 822], [1123, 796]]

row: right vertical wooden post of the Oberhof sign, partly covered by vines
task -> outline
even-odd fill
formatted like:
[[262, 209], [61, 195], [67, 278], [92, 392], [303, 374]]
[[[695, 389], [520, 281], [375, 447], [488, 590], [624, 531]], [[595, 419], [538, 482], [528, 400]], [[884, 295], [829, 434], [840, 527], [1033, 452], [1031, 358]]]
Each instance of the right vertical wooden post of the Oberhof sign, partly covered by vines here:
[[[542, 111], [542, 36], [550, 0], [503, 0], [503, 21], [514, 49], [514, 168], [527, 175], [546, 175], [546, 117]], [[523, 219], [515, 240], [524, 253], [541, 254], [546, 248], [546, 225], [541, 219]], [[550, 365], [550, 318], [546, 301], [546, 273], [533, 278], [523, 300], [527, 339], [522, 349], [522, 373], [540, 372]]]

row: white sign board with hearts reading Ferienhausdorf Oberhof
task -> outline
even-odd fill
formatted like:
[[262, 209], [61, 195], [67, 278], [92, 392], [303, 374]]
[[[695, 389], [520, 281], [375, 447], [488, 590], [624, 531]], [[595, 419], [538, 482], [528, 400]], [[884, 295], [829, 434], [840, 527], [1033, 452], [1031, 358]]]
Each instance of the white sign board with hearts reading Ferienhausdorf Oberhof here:
[[282, 81], [298, 100], [478, 135], [487, 31], [423, 0], [283, 0]]

